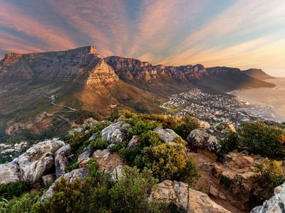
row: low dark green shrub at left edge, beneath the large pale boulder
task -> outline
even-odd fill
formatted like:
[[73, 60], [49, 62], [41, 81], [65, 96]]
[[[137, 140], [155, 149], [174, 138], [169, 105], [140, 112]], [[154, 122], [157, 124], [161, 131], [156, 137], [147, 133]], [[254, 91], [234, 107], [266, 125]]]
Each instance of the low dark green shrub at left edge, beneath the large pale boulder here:
[[24, 192], [27, 192], [30, 186], [23, 181], [9, 182], [0, 185], [0, 198], [11, 199], [12, 197], [19, 197]]

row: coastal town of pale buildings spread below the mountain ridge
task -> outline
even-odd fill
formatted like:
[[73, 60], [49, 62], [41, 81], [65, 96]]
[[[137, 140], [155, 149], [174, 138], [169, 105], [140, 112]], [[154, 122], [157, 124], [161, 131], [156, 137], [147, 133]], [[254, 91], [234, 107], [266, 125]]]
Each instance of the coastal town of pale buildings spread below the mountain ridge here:
[[175, 116], [191, 115], [210, 124], [227, 121], [239, 126], [241, 121], [260, 119], [246, 110], [252, 107], [248, 102], [241, 102], [230, 95], [209, 94], [201, 89], [173, 94], [160, 107]]

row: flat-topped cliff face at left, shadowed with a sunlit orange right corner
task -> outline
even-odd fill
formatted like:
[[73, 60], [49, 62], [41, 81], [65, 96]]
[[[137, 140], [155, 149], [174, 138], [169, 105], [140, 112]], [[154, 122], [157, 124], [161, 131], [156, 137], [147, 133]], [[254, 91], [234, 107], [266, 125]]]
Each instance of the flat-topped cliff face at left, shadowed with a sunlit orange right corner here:
[[9, 53], [0, 62], [0, 80], [56, 80], [94, 84], [115, 81], [112, 67], [93, 46], [50, 53]]

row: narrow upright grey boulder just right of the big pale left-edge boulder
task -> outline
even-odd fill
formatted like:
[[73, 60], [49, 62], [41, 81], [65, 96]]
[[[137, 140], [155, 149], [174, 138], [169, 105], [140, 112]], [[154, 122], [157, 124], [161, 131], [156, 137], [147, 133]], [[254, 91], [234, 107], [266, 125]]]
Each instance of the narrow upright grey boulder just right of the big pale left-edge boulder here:
[[56, 164], [56, 179], [66, 173], [66, 168], [69, 165], [68, 155], [71, 153], [71, 146], [67, 144], [62, 146], [55, 153], [54, 163]]

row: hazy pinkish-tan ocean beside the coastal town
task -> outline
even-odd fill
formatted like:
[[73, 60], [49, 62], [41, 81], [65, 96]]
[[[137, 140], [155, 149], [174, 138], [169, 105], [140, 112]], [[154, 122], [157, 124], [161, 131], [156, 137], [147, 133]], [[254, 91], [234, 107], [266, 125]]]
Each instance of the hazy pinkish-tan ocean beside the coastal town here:
[[242, 89], [230, 92], [239, 101], [248, 102], [245, 109], [255, 116], [278, 122], [285, 122], [285, 78], [266, 80], [274, 83], [273, 88]]

